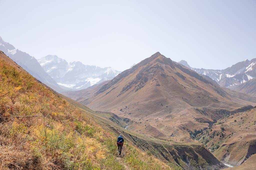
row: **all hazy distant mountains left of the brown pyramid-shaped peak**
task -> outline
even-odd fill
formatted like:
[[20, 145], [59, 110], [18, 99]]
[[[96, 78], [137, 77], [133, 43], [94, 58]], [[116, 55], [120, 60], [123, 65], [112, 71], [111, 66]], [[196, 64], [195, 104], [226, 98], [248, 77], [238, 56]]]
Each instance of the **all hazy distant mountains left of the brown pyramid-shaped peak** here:
[[80, 61], [68, 63], [56, 55], [48, 55], [37, 60], [5, 42], [1, 37], [0, 50], [36, 79], [58, 92], [84, 89], [111, 80], [120, 73], [111, 67], [89, 66]]

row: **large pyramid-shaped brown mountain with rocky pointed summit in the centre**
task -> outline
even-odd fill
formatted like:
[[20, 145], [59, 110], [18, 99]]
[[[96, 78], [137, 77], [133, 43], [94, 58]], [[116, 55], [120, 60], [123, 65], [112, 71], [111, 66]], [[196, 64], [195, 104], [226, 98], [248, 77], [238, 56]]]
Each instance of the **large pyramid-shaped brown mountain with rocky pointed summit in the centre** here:
[[120, 73], [94, 96], [78, 101], [115, 113], [135, 132], [185, 142], [193, 141], [188, 131], [207, 128], [229, 111], [255, 105], [255, 98], [234, 92], [239, 99], [227, 91], [158, 52]]

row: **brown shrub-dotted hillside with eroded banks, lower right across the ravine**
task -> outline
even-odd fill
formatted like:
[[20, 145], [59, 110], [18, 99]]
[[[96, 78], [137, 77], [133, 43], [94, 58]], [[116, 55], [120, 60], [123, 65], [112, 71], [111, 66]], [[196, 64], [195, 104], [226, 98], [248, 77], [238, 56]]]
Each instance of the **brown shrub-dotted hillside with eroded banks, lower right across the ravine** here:
[[200, 141], [224, 163], [238, 166], [256, 153], [256, 108], [221, 119]]

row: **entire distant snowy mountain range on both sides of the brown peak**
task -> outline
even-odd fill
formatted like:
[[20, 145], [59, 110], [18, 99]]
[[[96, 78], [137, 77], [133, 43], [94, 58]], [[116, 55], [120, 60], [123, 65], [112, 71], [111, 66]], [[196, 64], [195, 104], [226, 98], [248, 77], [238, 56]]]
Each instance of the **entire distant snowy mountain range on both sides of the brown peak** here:
[[[58, 92], [85, 89], [94, 84], [112, 80], [116, 75], [121, 73], [111, 67], [100, 68], [85, 65], [80, 61], [68, 63], [66, 60], [56, 55], [48, 55], [37, 60], [35, 57], [5, 42], [1, 37], [0, 50], [39, 81]], [[192, 68], [184, 60], [178, 63], [183, 64], [199, 74], [210, 77], [220, 86], [232, 89], [235, 89], [233, 86], [238, 86], [256, 77], [256, 58], [251, 61], [244, 60], [238, 62], [223, 70]], [[135, 64], [133, 64], [132, 67], [133, 66], [135, 66]]]

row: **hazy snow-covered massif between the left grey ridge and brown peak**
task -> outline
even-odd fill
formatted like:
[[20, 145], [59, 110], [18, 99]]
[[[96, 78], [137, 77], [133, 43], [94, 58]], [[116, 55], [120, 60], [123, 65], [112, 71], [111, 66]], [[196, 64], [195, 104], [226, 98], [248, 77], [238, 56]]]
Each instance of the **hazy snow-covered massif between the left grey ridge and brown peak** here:
[[62, 88], [80, 90], [102, 81], [111, 80], [119, 71], [111, 67], [100, 68], [73, 61], [68, 63], [55, 55], [48, 55], [38, 59], [41, 67]]

